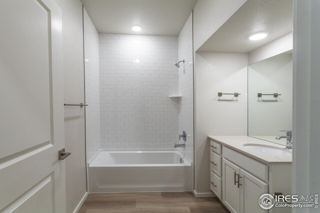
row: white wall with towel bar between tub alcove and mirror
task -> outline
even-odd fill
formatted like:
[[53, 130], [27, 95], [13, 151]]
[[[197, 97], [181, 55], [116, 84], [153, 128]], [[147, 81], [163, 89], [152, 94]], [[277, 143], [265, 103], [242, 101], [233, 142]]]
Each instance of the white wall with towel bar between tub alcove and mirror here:
[[[247, 63], [244, 53], [196, 52], [195, 194], [210, 194], [209, 135], [247, 135]], [[218, 97], [217, 93], [238, 92]]]

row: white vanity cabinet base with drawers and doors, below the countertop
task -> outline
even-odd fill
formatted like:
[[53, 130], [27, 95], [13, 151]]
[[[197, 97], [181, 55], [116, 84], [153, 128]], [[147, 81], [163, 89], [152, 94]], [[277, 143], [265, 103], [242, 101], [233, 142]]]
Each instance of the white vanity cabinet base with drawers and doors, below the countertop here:
[[291, 212], [289, 208], [260, 208], [262, 194], [291, 193], [291, 164], [262, 162], [210, 140], [210, 189], [231, 213]]

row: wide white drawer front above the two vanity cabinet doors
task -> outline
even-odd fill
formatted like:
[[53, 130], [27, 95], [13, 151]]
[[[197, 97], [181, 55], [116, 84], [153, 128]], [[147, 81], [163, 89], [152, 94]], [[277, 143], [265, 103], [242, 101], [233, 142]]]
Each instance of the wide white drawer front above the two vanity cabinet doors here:
[[239, 167], [243, 168], [246, 171], [249, 171], [256, 177], [268, 182], [268, 166], [262, 164], [252, 158], [249, 158], [245, 155], [242, 155], [238, 152], [235, 152], [227, 147], [223, 147], [223, 157], [232, 161]]

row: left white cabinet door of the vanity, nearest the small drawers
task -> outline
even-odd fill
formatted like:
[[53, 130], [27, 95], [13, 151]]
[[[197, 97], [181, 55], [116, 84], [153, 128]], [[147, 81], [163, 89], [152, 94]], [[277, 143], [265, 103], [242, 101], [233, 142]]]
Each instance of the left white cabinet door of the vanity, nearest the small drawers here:
[[231, 213], [240, 212], [240, 189], [235, 183], [239, 173], [239, 167], [222, 159], [222, 201]]

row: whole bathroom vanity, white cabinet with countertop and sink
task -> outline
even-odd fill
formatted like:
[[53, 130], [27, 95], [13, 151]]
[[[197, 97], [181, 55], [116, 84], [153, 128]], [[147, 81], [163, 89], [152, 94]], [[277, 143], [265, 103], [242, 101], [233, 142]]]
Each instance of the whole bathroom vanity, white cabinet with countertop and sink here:
[[249, 136], [208, 136], [210, 190], [231, 213], [290, 213], [263, 210], [262, 194], [291, 194], [292, 151]]

